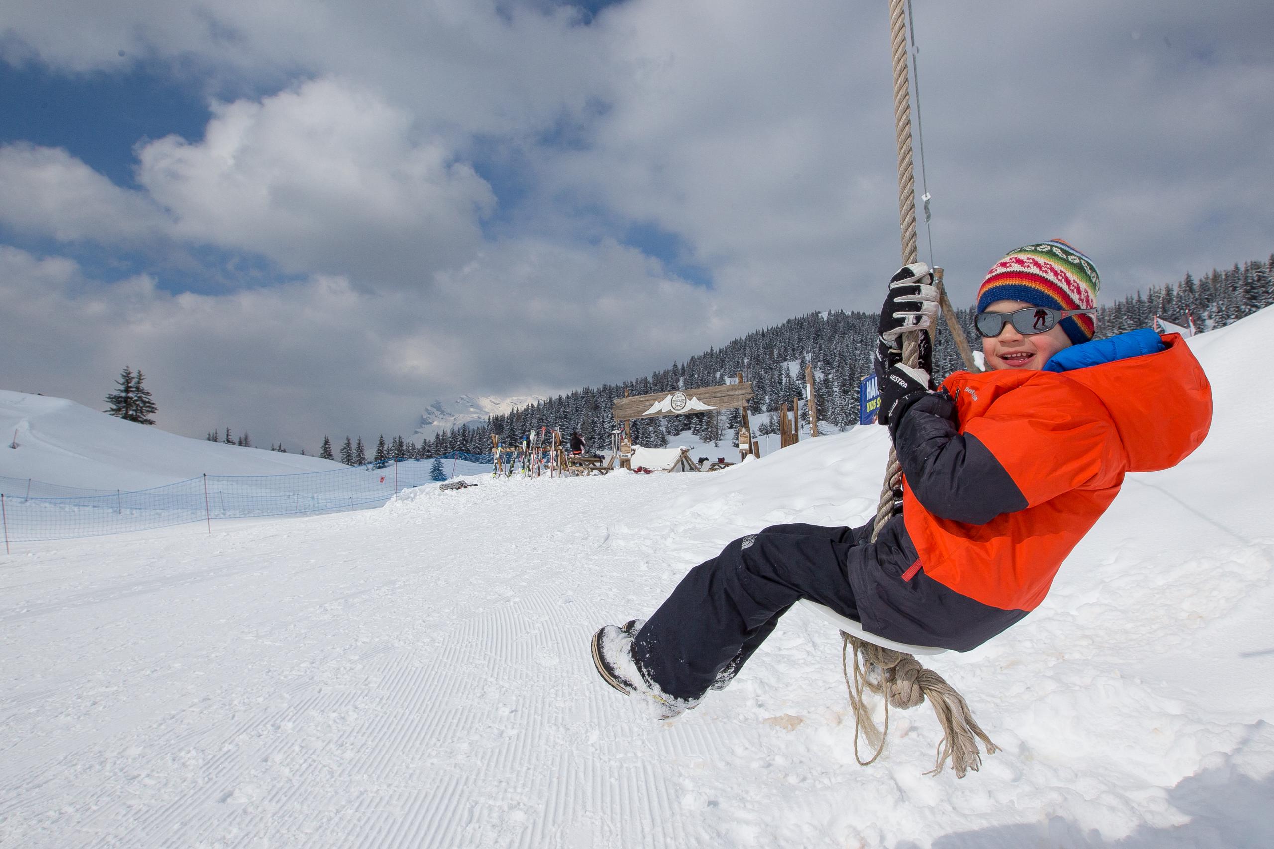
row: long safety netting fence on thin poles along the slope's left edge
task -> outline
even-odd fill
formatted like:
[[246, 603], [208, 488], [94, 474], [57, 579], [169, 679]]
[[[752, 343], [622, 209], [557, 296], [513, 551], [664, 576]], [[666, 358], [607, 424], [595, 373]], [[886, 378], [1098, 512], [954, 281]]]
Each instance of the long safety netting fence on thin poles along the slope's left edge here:
[[[396, 493], [489, 471], [490, 454], [390, 460], [299, 475], [204, 475], [154, 489], [75, 489], [0, 476], [6, 544], [126, 533], [217, 519], [334, 513], [378, 507]], [[461, 466], [462, 463], [462, 466]]]

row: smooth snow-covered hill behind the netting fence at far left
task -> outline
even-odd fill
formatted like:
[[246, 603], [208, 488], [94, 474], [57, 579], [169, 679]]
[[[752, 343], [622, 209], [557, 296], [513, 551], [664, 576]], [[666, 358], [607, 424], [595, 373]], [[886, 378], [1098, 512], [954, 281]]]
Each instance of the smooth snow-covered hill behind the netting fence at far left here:
[[[0, 389], [0, 477], [135, 490], [200, 475], [341, 468], [317, 457], [190, 439], [42, 395]], [[17, 443], [17, 448], [11, 446]]]

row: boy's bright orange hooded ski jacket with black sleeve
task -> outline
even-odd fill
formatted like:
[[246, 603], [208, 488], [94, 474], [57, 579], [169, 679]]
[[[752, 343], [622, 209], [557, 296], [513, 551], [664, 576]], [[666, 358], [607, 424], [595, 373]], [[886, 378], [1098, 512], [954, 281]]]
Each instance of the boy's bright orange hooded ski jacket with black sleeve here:
[[1162, 341], [1061, 373], [948, 377], [956, 435], [926, 444], [908, 420], [896, 434], [911, 575], [1001, 611], [1034, 610], [1125, 474], [1175, 466], [1208, 434], [1208, 378], [1181, 336]]

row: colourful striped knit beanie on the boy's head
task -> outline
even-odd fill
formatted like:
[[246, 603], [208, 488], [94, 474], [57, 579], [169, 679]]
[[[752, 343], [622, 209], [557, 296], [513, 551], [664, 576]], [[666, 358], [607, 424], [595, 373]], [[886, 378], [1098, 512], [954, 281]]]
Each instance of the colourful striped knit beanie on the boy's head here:
[[[1101, 285], [1092, 260], [1061, 239], [1049, 239], [1009, 251], [991, 266], [977, 290], [977, 311], [982, 312], [996, 300], [1020, 300], [1052, 309], [1093, 309]], [[1079, 345], [1093, 337], [1094, 318], [1063, 318], [1061, 328]]]

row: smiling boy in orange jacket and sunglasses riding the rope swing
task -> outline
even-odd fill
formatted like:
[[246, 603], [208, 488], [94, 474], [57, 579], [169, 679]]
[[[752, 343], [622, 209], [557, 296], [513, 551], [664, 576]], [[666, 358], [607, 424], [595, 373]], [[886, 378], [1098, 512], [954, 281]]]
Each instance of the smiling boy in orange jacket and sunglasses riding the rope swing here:
[[871, 523], [777, 524], [730, 542], [648, 620], [599, 630], [598, 673], [670, 718], [729, 685], [801, 598], [871, 634], [959, 652], [1034, 610], [1124, 475], [1181, 462], [1212, 421], [1208, 379], [1178, 335], [1093, 340], [1099, 285], [1060, 239], [1009, 252], [977, 293], [989, 370], [935, 391], [927, 333], [920, 368], [899, 359], [902, 333], [933, 325], [938, 291], [925, 263], [901, 269], [875, 372], [902, 510], [875, 542]]

